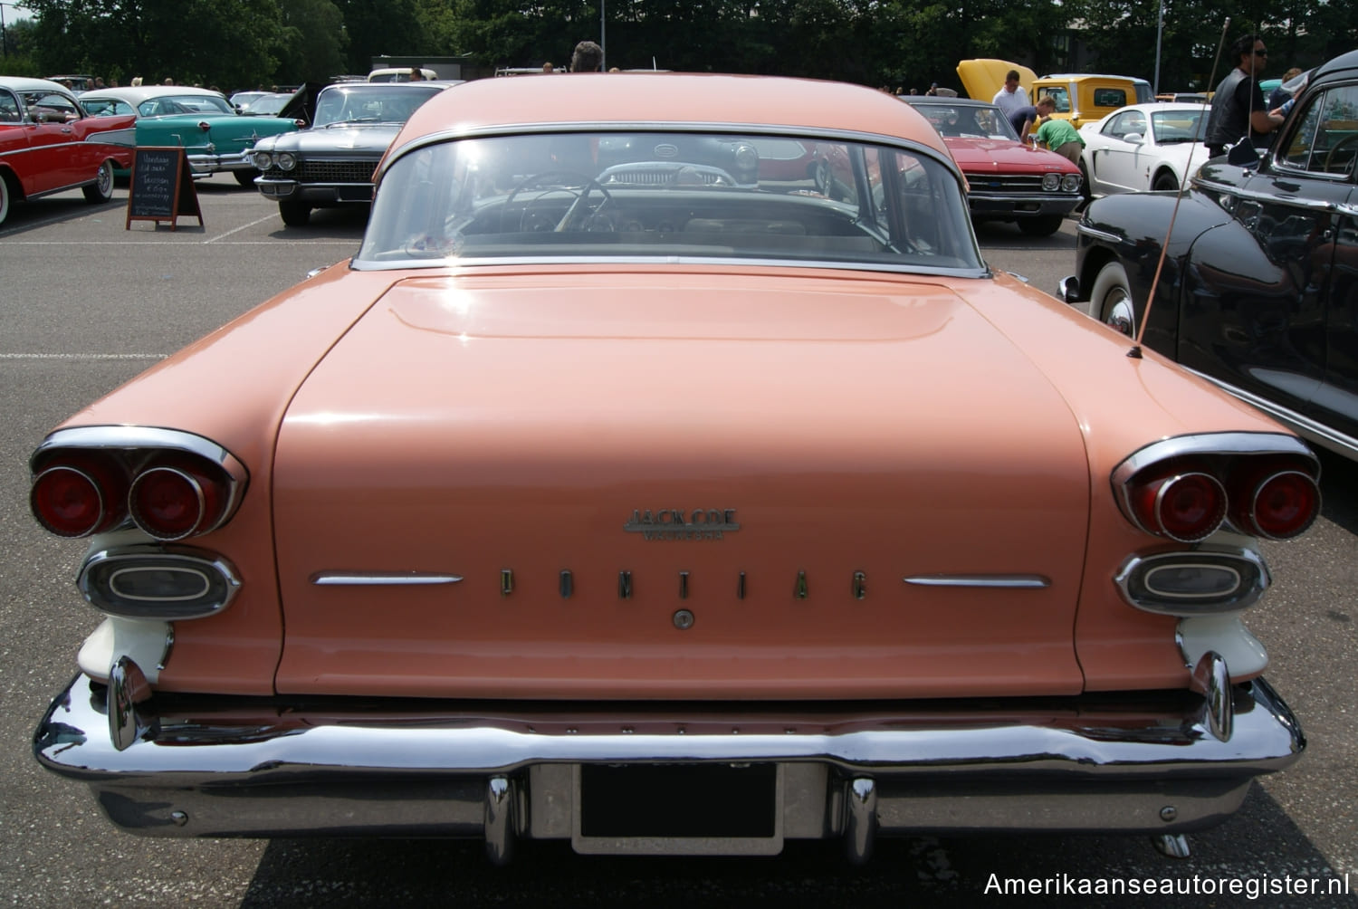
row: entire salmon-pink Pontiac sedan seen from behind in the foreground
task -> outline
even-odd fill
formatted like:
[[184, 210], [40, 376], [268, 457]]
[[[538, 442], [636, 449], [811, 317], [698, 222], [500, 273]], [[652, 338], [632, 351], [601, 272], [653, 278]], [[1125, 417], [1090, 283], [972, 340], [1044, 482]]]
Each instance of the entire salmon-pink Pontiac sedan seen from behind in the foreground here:
[[1301, 754], [1243, 616], [1312, 452], [987, 268], [910, 106], [485, 79], [376, 185], [352, 261], [33, 455], [106, 616], [35, 753], [114, 823], [1181, 853]]

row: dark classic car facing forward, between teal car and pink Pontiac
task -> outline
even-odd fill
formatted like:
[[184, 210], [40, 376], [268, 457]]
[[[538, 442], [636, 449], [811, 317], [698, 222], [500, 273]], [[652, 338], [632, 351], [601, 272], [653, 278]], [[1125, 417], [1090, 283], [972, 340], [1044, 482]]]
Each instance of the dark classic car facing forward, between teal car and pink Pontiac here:
[[410, 114], [454, 82], [337, 83], [315, 103], [310, 129], [261, 139], [255, 186], [278, 201], [284, 224], [300, 227], [314, 208], [372, 202], [372, 173]]

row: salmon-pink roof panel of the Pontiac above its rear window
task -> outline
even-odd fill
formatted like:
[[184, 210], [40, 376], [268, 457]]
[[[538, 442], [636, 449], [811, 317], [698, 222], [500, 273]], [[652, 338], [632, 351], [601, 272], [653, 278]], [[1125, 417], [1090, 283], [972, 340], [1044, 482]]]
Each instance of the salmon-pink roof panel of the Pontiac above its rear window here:
[[902, 137], [948, 156], [937, 130], [895, 95], [839, 82], [716, 73], [569, 73], [568, 79], [477, 79], [429, 99], [392, 154], [426, 135], [542, 129], [769, 126]]

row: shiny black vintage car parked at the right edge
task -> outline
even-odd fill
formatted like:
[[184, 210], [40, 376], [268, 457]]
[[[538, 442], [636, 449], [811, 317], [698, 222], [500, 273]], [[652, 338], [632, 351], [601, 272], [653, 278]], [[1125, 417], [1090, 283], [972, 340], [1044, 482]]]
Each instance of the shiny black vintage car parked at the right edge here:
[[1131, 336], [1145, 321], [1145, 346], [1358, 458], [1355, 160], [1350, 52], [1315, 71], [1262, 155], [1209, 160], [1181, 200], [1092, 202], [1061, 295]]

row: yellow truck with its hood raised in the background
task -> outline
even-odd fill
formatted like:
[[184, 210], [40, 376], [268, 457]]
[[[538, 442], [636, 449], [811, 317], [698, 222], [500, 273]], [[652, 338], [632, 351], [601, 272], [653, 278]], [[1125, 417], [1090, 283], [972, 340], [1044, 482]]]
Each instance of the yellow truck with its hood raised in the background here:
[[1076, 129], [1103, 120], [1119, 107], [1153, 101], [1150, 83], [1145, 79], [1088, 72], [1038, 76], [1028, 67], [1009, 60], [963, 60], [957, 64], [957, 76], [970, 96], [990, 101], [1005, 84], [1010, 69], [1019, 71], [1019, 84], [1028, 91], [1032, 103], [1051, 95], [1057, 102], [1055, 115], [1069, 120]]

